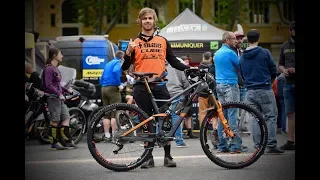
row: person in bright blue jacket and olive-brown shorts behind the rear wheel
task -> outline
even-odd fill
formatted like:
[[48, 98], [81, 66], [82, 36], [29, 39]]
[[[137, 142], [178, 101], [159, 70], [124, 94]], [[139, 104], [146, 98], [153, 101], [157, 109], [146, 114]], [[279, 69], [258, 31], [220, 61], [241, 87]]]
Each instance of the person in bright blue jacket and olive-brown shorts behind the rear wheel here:
[[[121, 76], [121, 64], [120, 60], [123, 59], [124, 52], [117, 51], [116, 57], [109, 61], [103, 70], [103, 73], [100, 78], [101, 89], [101, 98], [103, 106], [121, 103], [121, 94], [120, 91], [123, 89], [121, 86], [120, 76]], [[106, 115], [103, 119], [103, 129], [104, 129], [104, 139], [106, 141], [111, 141], [111, 135], [109, 132], [111, 121], [112, 133], [117, 130], [117, 123], [115, 119], [115, 113], [111, 113], [109, 116]]]

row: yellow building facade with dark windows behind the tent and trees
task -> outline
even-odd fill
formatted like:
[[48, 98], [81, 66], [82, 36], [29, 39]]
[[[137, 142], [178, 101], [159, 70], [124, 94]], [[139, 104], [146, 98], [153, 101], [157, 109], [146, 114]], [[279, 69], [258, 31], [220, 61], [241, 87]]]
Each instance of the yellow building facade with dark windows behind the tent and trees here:
[[[221, 0], [220, 0], [221, 1]], [[244, 0], [241, 0], [241, 2]], [[288, 20], [294, 18], [294, 4], [292, 0], [284, 0], [283, 16]], [[25, 0], [25, 29], [26, 31], [36, 31], [40, 34], [41, 40], [53, 40], [57, 36], [64, 35], [89, 35], [93, 34], [93, 28], [84, 27], [77, 22], [77, 10], [74, 10], [72, 0]], [[221, 29], [226, 29], [226, 25], [219, 23], [218, 0], [202, 0], [202, 18], [208, 23]], [[129, 3], [130, 4], [130, 3]], [[248, 0], [247, 18], [241, 25], [244, 32], [250, 29], [258, 29], [261, 33], [260, 43], [263, 47], [271, 50], [275, 60], [279, 54], [280, 44], [289, 38], [288, 25], [281, 22], [281, 16], [275, 4], [268, 1]], [[139, 9], [128, 5], [128, 12], [120, 18], [119, 23], [109, 33], [109, 39], [117, 43], [121, 39], [135, 37], [140, 31], [136, 23]], [[169, 0], [164, 8], [165, 22], [168, 24], [186, 7], [179, 0]], [[190, 3], [188, 6], [192, 10]], [[215, 17], [215, 18], [213, 18]], [[103, 29], [107, 29], [111, 17], [103, 17]]]

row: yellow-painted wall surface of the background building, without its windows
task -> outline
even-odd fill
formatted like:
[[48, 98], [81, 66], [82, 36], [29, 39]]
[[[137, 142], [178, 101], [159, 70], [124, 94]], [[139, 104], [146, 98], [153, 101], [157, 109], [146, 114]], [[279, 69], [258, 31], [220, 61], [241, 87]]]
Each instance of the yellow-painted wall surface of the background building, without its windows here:
[[[35, 0], [35, 27], [40, 33], [40, 38], [53, 39], [56, 36], [61, 35], [61, 4], [63, 0]], [[51, 9], [50, 5], [54, 5], [55, 8]], [[170, 0], [166, 5], [166, 20], [167, 23], [171, 22], [178, 15], [179, 0]], [[203, 0], [202, 16], [204, 20], [211, 23], [213, 21], [213, 1]], [[109, 39], [112, 42], [117, 43], [121, 39], [129, 39], [136, 37], [140, 32], [140, 27], [136, 23], [136, 18], [139, 13], [139, 9], [129, 9], [129, 24], [128, 25], [116, 25], [109, 33]], [[56, 27], [50, 26], [50, 14], [56, 14]], [[289, 30], [287, 25], [280, 23], [280, 18], [275, 6], [271, 6], [270, 10], [271, 22], [265, 24], [249, 24], [243, 23], [242, 27], [245, 32], [252, 28], [259, 29], [261, 32], [261, 43], [279, 44], [286, 41], [289, 38]], [[105, 22], [105, 21], [104, 21]], [[225, 29], [225, 26], [218, 26], [219, 28]], [[107, 25], [104, 25], [105, 29]], [[82, 34], [92, 34], [92, 28], [82, 28], [80, 31]]]

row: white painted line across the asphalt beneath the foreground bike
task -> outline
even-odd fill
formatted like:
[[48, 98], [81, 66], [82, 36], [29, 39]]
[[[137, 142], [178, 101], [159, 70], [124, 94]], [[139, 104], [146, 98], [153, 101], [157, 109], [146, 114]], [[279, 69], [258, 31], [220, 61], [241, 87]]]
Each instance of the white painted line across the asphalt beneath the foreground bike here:
[[[286, 155], [286, 154], [293, 154], [293, 152], [285, 152], [285, 154], [282, 155]], [[227, 157], [227, 156], [239, 156], [241, 157], [241, 155], [244, 154], [229, 154], [229, 153], [223, 153], [223, 154], [219, 154], [219, 157]], [[252, 155], [252, 153], [248, 153], [246, 154], [246, 157]], [[270, 156], [270, 155], [268, 155]], [[81, 157], [79, 157], [81, 158]], [[193, 156], [174, 156], [174, 159], [197, 159], [197, 158], [208, 158], [206, 155], [193, 155]], [[134, 158], [115, 158], [115, 159], [109, 159], [109, 161], [124, 161], [124, 160], [133, 160]], [[153, 157], [154, 160], [162, 160], [163, 156], [159, 156], [159, 157]], [[96, 160], [93, 158], [90, 159], [56, 159], [56, 160], [44, 160], [44, 161], [26, 161], [25, 164], [66, 164], [66, 163], [96, 163]]]

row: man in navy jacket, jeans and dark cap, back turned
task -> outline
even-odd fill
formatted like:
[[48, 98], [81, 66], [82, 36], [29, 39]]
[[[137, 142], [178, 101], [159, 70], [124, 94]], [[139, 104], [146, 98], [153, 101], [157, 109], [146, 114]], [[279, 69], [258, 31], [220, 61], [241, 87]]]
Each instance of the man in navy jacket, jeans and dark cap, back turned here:
[[[277, 148], [277, 103], [272, 90], [272, 82], [277, 76], [277, 66], [268, 49], [258, 46], [260, 33], [253, 29], [247, 33], [249, 47], [240, 58], [240, 72], [247, 88], [246, 102], [259, 110], [265, 117], [268, 128], [266, 153], [278, 154], [284, 151]], [[257, 121], [252, 120], [252, 136], [255, 148], [260, 137]]]

